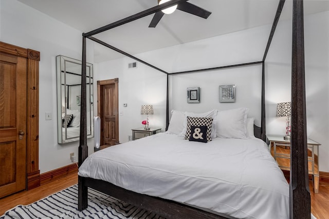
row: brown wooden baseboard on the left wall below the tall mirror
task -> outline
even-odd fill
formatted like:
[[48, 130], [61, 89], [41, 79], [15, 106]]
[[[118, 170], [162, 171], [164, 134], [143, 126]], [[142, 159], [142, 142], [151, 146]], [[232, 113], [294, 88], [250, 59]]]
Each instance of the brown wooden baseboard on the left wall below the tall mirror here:
[[71, 165], [58, 168], [56, 170], [51, 170], [40, 175], [40, 185], [44, 185], [47, 182], [62, 178], [72, 173], [78, 173], [77, 163], [72, 163]]

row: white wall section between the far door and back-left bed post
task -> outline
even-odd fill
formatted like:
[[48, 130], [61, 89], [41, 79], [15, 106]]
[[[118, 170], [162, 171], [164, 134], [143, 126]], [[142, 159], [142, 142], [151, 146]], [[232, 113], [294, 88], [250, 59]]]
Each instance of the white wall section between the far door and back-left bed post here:
[[[153, 68], [137, 64], [137, 68], [128, 69], [130, 58], [122, 58], [98, 64], [102, 72], [96, 80], [119, 78], [119, 141], [128, 141], [131, 129], [141, 127], [144, 115], [140, 115], [142, 104], [152, 104], [154, 115], [149, 116], [151, 127], [166, 128], [166, 74]], [[123, 107], [123, 103], [127, 107]], [[163, 119], [165, 115], [165, 119]]]

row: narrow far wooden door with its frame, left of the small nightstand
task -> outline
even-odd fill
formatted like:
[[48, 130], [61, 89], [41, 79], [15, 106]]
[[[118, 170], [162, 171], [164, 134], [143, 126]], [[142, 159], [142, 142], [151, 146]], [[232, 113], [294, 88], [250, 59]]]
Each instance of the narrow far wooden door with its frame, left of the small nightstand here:
[[102, 149], [119, 143], [118, 79], [98, 81], [97, 93]]

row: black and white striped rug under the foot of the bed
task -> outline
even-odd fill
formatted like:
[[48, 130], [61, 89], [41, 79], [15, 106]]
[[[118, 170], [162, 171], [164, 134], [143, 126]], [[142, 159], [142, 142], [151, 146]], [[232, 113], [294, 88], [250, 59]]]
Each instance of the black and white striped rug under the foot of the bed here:
[[88, 189], [88, 208], [78, 211], [78, 185], [24, 206], [7, 211], [7, 218], [163, 218], [93, 189]]

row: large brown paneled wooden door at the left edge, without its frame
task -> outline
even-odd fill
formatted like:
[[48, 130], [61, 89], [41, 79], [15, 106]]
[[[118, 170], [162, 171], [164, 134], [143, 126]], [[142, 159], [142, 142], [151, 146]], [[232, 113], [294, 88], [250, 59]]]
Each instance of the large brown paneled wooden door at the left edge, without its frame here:
[[27, 59], [0, 52], [0, 197], [26, 187]]

